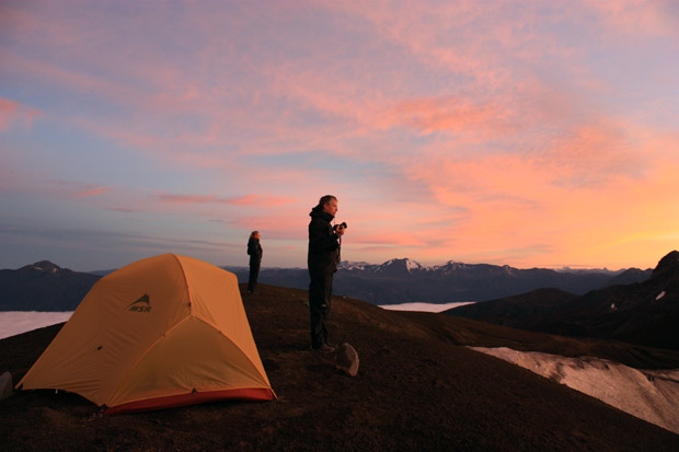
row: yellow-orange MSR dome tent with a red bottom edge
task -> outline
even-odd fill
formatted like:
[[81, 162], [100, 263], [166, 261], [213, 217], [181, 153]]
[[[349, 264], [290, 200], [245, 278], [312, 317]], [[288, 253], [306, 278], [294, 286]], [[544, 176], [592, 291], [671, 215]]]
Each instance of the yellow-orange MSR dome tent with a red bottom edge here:
[[235, 275], [174, 254], [100, 279], [16, 389], [73, 392], [105, 414], [276, 397]]

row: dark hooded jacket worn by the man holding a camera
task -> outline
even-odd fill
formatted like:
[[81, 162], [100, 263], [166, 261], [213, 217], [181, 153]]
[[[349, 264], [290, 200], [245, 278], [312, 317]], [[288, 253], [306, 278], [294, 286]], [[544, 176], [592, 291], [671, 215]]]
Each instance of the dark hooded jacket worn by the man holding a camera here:
[[340, 262], [338, 237], [330, 224], [334, 217], [323, 211], [323, 206], [314, 207], [309, 216], [311, 217], [309, 254], [307, 256], [309, 273], [314, 275], [333, 274], [337, 271], [337, 263]]

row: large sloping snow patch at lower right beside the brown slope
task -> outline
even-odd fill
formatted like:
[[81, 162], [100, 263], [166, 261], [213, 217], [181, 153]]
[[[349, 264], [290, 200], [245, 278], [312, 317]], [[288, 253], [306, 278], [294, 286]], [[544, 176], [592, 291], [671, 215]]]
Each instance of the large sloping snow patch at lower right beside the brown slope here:
[[679, 433], [679, 369], [638, 370], [600, 358], [470, 347]]

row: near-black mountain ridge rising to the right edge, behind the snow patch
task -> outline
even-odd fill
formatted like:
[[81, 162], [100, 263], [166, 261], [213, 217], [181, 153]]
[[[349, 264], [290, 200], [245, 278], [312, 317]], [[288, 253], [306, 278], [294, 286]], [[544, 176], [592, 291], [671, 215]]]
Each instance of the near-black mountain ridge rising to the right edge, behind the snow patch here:
[[614, 285], [584, 295], [541, 289], [446, 313], [534, 332], [679, 350], [679, 252], [663, 257], [642, 282]]

